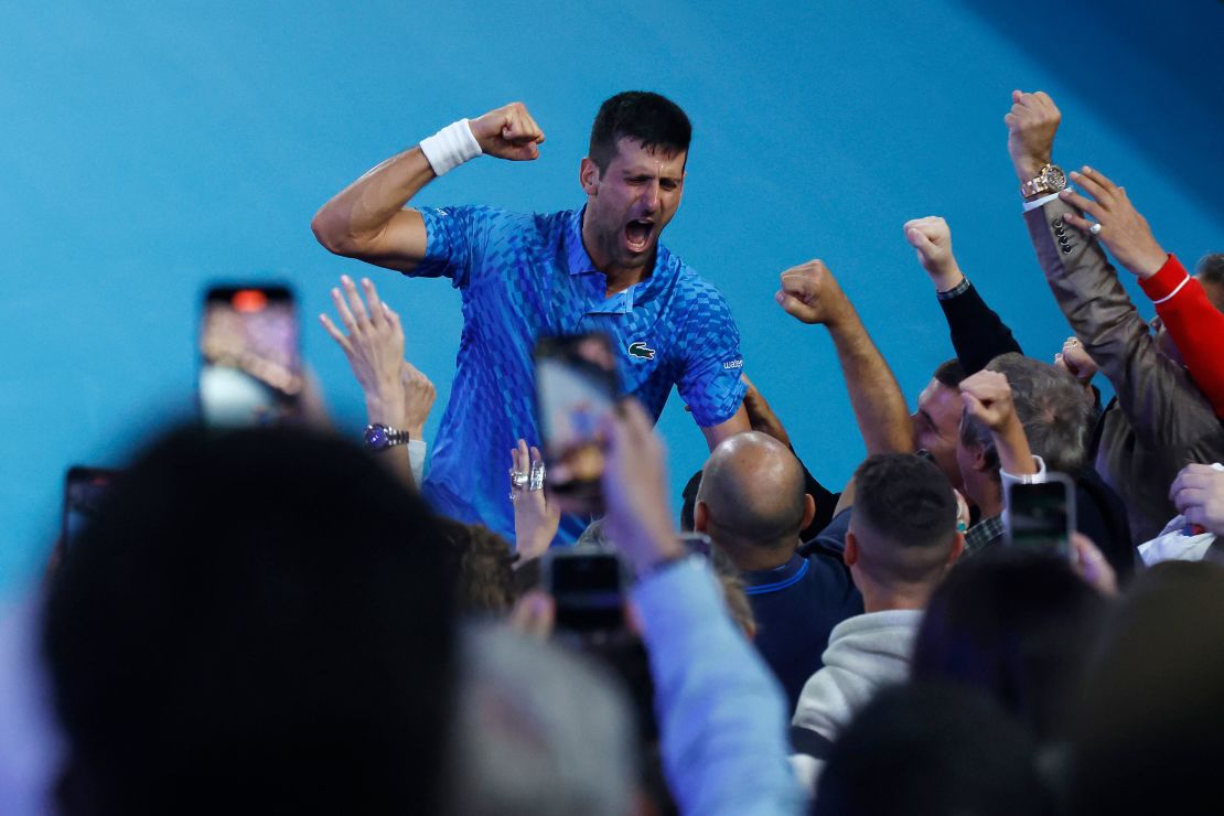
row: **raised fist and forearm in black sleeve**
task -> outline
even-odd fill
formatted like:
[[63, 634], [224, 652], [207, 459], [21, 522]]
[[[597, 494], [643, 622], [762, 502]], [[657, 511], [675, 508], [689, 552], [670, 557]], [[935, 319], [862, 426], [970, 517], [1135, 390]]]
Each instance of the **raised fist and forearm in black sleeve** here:
[[961, 272], [952, 254], [952, 231], [938, 215], [906, 221], [906, 240], [918, 254], [918, 263], [935, 284], [944, 310], [952, 347], [966, 374], [976, 374], [1001, 354], [1023, 354], [1011, 329], [987, 306], [982, 295]]

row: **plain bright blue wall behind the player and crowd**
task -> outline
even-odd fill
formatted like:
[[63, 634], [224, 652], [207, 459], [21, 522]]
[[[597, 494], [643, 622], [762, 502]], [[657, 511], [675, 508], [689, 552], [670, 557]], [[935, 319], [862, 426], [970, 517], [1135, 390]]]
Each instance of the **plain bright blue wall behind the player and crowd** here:
[[[1049, 357], [1066, 335], [1018, 215], [1012, 88], [1054, 95], [1059, 160], [1124, 181], [1168, 248], [1224, 247], [1219, 2], [113, 0], [7, 2], [2, 18], [0, 598], [39, 574], [69, 464], [121, 464], [191, 410], [212, 279], [297, 287], [307, 358], [356, 433], [359, 390], [313, 316], [338, 275], [373, 274], [438, 385], [432, 433], [457, 294], [334, 258], [308, 223], [383, 158], [509, 100], [545, 127], [541, 159], [476, 161], [421, 201], [577, 206], [599, 103], [673, 97], [695, 142], [667, 243], [727, 295], [745, 369], [835, 487], [862, 443], [823, 330], [774, 303], [783, 268], [829, 263], [911, 399], [950, 346], [909, 218], [950, 220], [1026, 350]], [[661, 428], [678, 493], [705, 448], [678, 399]]]

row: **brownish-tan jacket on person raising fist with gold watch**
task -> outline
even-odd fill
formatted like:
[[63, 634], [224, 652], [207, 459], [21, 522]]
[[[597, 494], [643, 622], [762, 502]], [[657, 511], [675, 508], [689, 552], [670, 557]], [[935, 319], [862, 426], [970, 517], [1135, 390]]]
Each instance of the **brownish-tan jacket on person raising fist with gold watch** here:
[[1118, 401], [1100, 417], [1097, 472], [1126, 503], [1135, 543], [1177, 510], [1169, 486], [1190, 462], [1224, 460], [1224, 426], [1185, 368], [1157, 346], [1100, 245], [1062, 217], [1061, 199], [1024, 213], [1045, 280]]

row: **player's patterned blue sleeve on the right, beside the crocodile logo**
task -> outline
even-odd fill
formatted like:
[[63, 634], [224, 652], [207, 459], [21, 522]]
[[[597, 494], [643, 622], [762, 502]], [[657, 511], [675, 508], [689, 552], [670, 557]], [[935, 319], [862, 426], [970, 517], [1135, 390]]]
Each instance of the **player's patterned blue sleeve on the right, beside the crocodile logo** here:
[[739, 410], [748, 387], [741, 378], [739, 329], [714, 286], [704, 284], [694, 295], [682, 336], [687, 354], [677, 383], [681, 398], [703, 428], [726, 422]]

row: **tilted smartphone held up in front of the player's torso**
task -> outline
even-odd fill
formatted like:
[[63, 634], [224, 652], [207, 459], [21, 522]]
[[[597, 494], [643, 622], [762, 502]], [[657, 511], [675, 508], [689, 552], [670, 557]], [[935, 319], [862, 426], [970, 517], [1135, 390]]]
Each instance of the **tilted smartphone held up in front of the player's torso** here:
[[600, 333], [542, 338], [534, 358], [548, 489], [568, 510], [599, 511], [600, 428], [621, 396], [612, 344]]

